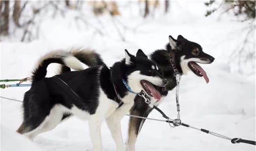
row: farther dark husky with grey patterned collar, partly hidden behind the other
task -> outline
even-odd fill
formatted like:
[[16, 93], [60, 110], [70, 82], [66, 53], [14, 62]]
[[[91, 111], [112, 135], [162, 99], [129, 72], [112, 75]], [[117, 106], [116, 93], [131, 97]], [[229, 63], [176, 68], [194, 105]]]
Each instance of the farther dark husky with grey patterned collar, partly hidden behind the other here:
[[[91, 50], [77, 50], [70, 53], [88, 66], [104, 64], [100, 59], [100, 55]], [[169, 56], [174, 60], [174, 64], [180, 74], [185, 75], [188, 71], [192, 71], [195, 75], [204, 77], [206, 83], [209, 82], [206, 72], [197, 63], [211, 64], [214, 61], [214, 57], [204, 53], [199, 44], [189, 41], [181, 35], [177, 39], [169, 36], [169, 42], [166, 44], [166, 48], [155, 50], [149, 56], [149, 59], [157, 64], [159, 72], [168, 80], [168, 84], [165, 87], [155, 86], [161, 96], [167, 96], [168, 91], [176, 87], [176, 78], [174, 77], [174, 70], [170, 64]], [[70, 68], [62, 66], [61, 73], [66, 71], [70, 71]], [[151, 99], [151, 102], [154, 101]], [[155, 102], [154, 105], [157, 106], [160, 102], [161, 100]], [[135, 97], [135, 104], [130, 109], [131, 115], [148, 117], [151, 111], [152, 108], [143, 101], [143, 98], [139, 96]], [[130, 117], [128, 138], [126, 140], [127, 151], [135, 150], [135, 142], [144, 122], [145, 119]]]

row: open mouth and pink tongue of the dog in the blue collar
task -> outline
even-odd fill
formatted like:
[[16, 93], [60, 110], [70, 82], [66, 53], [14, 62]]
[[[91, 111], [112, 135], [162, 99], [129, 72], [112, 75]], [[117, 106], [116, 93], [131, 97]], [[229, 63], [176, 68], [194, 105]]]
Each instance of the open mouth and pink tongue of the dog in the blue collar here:
[[141, 85], [145, 90], [145, 93], [149, 97], [154, 97], [156, 100], [161, 99], [161, 94], [155, 89], [155, 87], [149, 81], [141, 80]]

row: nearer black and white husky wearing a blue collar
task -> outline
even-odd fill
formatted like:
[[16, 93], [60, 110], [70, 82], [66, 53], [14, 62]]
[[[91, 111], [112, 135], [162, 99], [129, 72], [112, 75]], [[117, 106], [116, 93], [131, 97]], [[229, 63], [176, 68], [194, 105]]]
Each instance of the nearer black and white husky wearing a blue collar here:
[[[82, 59], [78, 60], [65, 51], [52, 51], [44, 55], [33, 71], [32, 87], [24, 94], [24, 120], [17, 132], [33, 139], [38, 134], [55, 128], [63, 119], [76, 115], [89, 120], [93, 149], [99, 151], [102, 149], [101, 124], [106, 119], [117, 151], [124, 151], [120, 120], [134, 104], [136, 94], [130, 93], [122, 81], [126, 81], [135, 93], [143, 90], [149, 97], [157, 100], [161, 95], [152, 84], [164, 87], [168, 82], [159, 74], [156, 64], [140, 49], [136, 57], [127, 50], [125, 55], [125, 59], [116, 62], [111, 70], [101, 60], [94, 61], [102, 66], [82, 70]], [[97, 56], [94, 55], [94, 58]], [[46, 78], [46, 69], [51, 63], [82, 71]], [[61, 81], [80, 99], [72, 97], [56, 80]]]

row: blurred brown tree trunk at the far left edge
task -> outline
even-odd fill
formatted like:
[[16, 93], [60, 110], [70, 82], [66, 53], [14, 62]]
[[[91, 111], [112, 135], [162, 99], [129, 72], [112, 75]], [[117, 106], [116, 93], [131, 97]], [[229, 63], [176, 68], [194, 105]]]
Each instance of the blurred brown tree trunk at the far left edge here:
[[[4, 7], [4, 9], [3, 9]], [[9, 0], [1, 1], [0, 8], [0, 34], [8, 35], [9, 34]]]

